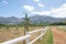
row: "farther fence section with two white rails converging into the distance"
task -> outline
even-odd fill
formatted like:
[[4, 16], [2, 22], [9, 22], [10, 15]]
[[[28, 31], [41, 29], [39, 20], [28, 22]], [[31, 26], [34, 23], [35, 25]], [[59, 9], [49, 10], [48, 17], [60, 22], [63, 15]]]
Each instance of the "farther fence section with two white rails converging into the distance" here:
[[35, 32], [41, 31], [41, 35], [38, 35], [37, 37], [35, 37], [35, 38], [34, 38], [33, 41], [31, 41], [29, 44], [33, 44], [36, 40], [42, 38], [42, 36], [46, 33], [47, 30], [48, 30], [48, 28], [29, 32], [30, 34], [32, 34], [32, 33], [35, 33]]

